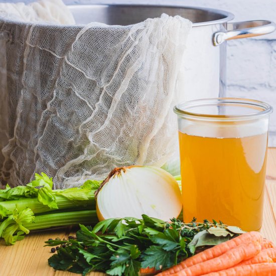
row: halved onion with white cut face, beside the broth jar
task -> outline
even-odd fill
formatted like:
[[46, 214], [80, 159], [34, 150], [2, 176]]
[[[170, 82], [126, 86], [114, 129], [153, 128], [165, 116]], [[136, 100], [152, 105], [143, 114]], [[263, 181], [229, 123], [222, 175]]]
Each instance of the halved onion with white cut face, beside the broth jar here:
[[142, 214], [168, 221], [178, 217], [182, 196], [177, 181], [157, 167], [131, 166], [113, 175], [97, 194], [98, 219]]

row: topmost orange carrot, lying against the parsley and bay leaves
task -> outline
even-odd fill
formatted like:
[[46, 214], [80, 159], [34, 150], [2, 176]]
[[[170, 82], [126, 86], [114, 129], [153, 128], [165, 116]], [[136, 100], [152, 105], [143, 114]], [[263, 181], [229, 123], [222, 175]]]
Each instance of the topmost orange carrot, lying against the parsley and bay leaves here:
[[164, 275], [176, 273], [186, 267], [189, 267], [194, 264], [218, 257], [221, 254], [238, 246], [241, 243], [248, 243], [248, 242], [254, 241], [254, 240], [259, 241], [259, 243], [262, 242], [262, 236], [259, 232], [251, 231], [251, 232], [244, 233], [244, 234], [237, 236], [233, 239], [222, 242], [214, 247], [208, 248], [190, 258], [187, 258], [184, 261], [180, 262], [179, 264], [159, 273], [158, 275], [164, 276]]

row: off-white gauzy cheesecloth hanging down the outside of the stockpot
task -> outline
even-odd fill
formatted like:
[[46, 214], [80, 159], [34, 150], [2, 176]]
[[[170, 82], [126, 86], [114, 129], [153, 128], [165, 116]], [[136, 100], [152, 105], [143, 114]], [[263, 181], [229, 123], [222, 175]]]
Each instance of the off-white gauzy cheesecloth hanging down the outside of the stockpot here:
[[2, 183], [45, 172], [67, 188], [114, 167], [162, 166], [178, 147], [172, 107], [190, 28], [165, 14], [131, 26], [2, 18]]

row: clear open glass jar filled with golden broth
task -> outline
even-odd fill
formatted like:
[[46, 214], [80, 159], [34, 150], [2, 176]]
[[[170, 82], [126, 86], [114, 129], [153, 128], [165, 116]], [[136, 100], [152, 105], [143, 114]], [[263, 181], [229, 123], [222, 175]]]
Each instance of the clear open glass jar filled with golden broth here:
[[264, 102], [214, 98], [174, 107], [178, 115], [183, 217], [259, 230], [267, 153]]

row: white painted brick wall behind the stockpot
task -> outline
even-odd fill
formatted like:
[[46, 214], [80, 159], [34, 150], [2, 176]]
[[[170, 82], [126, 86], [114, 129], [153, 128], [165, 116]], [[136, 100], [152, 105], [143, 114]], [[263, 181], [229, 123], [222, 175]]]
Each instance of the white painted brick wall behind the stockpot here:
[[[25, 2], [31, 1], [25, 0]], [[2, 2], [19, 1], [2, 0]], [[265, 19], [276, 22], [276, 0], [64, 0], [64, 2], [198, 6], [231, 12], [235, 15], [235, 21]], [[275, 111], [270, 117], [269, 145], [276, 147], [276, 32], [254, 39], [228, 42], [227, 96], [263, 100], [274, 107]]]

